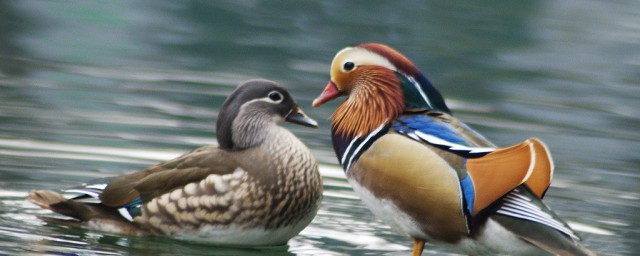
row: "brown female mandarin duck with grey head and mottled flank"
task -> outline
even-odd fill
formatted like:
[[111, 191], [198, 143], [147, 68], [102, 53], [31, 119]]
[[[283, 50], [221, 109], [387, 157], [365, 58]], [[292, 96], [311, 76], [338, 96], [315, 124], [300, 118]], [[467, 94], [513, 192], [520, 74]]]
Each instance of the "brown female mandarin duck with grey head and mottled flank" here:
[[224, 245], [285, 244], [316, 215], [322, 181], [315, 158], [278, 126], [282, 121], [317, 127], [284, 88], [250, 80], [220, 110], [219, 146], [65, 191], [81, 194], [73, 199], [33, 191], [28, 200], [113, 232]]

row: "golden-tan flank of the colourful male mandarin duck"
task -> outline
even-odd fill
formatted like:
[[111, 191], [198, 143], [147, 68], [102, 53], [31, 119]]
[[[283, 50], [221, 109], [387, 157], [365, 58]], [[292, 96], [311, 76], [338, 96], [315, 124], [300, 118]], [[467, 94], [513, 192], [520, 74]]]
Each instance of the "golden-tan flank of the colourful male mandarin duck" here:
[[458, 176], [438, 153], [398, 134], [358, 153], [346, 174], [377, 217], [411, 237], [455, 242], [468, 234]]

